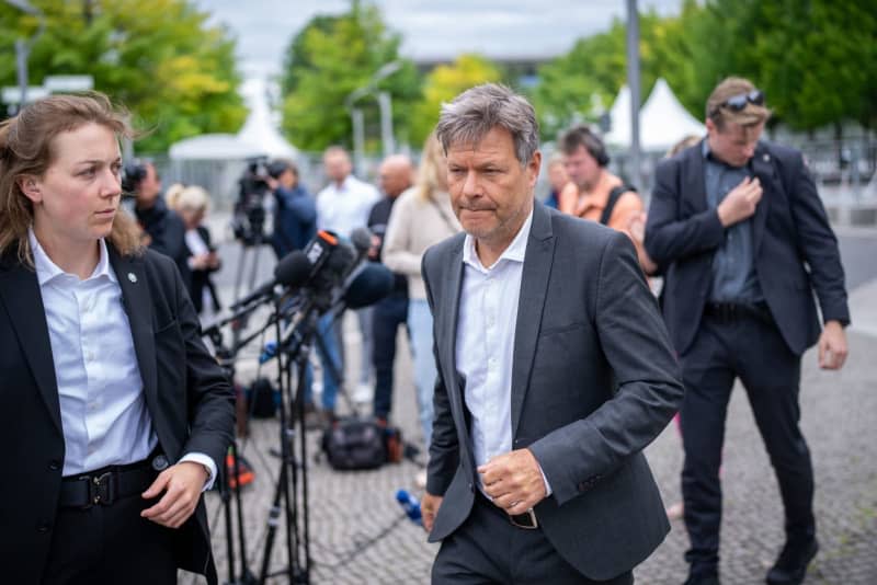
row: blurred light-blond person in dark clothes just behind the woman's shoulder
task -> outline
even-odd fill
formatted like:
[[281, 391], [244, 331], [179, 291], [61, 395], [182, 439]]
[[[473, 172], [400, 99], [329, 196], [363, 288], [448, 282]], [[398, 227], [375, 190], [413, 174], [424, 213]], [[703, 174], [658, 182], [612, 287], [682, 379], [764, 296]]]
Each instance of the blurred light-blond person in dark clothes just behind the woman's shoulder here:
[[198, 314], [203, 312], [205, 297], [212, 302], [213, 311], [219, 312], [221, 308], [219, 296], [210, 275], [219, 269], [221, 261], [212, 244], [210, 230], [204, 225], [204, 218], [210, 206], [210, 196], [198, 185], [184, 186], [174, 192], [169, 188], [166, 196], [168, 205], [180, 215], [185, 225], [187, 264], [192, 273], [189, 295], [192, 297], [195, 312]]

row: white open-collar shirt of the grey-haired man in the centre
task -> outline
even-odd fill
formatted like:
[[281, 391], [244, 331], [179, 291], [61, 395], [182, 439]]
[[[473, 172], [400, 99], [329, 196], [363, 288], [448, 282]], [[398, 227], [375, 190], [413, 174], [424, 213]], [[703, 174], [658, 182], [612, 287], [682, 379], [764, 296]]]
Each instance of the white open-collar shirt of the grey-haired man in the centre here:
[[[467, 234], [457, 317], [457, 370], [466, 378], [476, 466], [512, 450], [512, 363], [521, 276], [533, 211], [492, 266], [485, 267]], [[542, 470], [540, 470], [542, 471]], [[543, 473], [547, 495], [550, 486]], [[483, 485], [479, 485], [483, 492]]]

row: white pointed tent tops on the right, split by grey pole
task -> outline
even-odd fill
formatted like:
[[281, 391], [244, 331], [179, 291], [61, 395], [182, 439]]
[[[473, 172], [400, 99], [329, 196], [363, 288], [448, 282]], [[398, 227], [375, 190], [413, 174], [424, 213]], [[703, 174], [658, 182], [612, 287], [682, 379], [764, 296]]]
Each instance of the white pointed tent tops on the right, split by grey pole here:
[[[630, 90], [623, 87], [610, 111], [612, 129], [606, 144], [630, 146]], [[704, 136], [706, 126], [682, 106], [663, 78], [654, 82], [639, 111], [639, 144], [643, 150], [668, 150], [690, 135]]]

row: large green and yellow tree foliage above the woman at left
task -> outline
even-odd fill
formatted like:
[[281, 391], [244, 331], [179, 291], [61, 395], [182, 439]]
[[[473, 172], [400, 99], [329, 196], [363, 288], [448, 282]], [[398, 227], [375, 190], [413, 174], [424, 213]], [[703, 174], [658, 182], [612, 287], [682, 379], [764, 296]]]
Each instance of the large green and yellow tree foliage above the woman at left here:
[[[236, 131], [246, 117], [237, 93], [235, 43], [206, 25], [186, 0], [32, 0], [45, 33], [29, 59], [31, 84], [50, 74], [91, 74], [94, 89], [128, 107], [149, 131], [138, 150], [157, 152], [207, 131]], [[14, 85], [15, 38], [37, 21], [0, 3], [0, 83]]]

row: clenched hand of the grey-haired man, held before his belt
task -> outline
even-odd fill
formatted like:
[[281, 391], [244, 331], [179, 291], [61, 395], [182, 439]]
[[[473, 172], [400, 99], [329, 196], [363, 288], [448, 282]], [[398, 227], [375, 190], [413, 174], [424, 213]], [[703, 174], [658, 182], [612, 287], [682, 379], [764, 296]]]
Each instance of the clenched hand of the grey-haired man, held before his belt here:
[[478, 473], [493, 505], [512, 516], [525, 513], [546, 495], [539, 463], [529, 449], [497, 456], [480, 466]]

